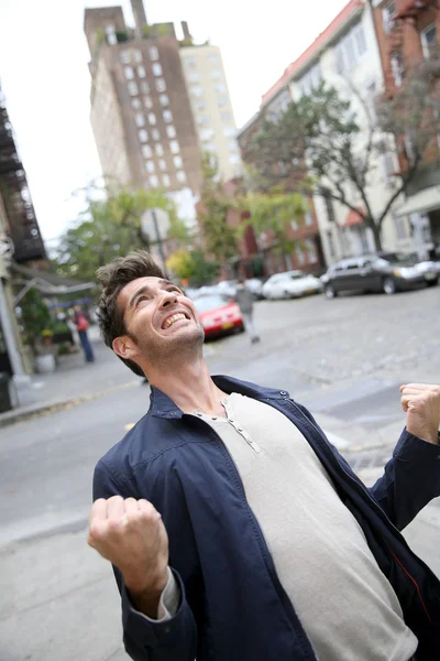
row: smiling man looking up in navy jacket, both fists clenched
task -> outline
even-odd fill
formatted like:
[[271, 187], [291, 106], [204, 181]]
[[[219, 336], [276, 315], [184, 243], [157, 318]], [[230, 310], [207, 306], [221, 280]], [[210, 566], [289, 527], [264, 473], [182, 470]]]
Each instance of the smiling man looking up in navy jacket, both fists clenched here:
[[402, 388], [366, 489], [285, 390], [209, 376], [193, 302], [146, 252], [98, 275], [105, 342], [152, 386], [96, 467], [88, 538], [131, 658], [438, 661], [440, 583], [399, 530], [440, 494], [440, 388]]

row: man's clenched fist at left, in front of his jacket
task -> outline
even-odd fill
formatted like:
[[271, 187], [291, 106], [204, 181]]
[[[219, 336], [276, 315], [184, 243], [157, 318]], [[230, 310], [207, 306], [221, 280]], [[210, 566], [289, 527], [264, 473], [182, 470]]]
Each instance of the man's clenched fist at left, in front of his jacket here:
[[88, 543], [122, 573], [132, 598], [155, 617], [168, 578], [168, 535], [147, 500], [113, 496], [95, 501]]

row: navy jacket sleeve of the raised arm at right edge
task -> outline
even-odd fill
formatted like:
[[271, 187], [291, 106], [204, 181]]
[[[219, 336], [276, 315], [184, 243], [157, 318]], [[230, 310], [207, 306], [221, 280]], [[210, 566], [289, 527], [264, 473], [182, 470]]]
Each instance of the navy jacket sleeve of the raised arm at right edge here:
[[[320, 430], [310, 412], [298, 403], [296, 405]], [[438, 441], [439, 445], [428, 443], [405, 429], [383, 476], [369, 489], [398, 530], [404, 530], [428, 502], [440, 496], [440, 435]], [[346, 459], [327, 442], [339, 462], [353, 474]]]

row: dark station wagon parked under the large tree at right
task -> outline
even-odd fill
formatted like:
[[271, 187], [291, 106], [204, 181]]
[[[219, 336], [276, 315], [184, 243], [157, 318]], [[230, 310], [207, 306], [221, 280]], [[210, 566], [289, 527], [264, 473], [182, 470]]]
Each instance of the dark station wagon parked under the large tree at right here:
[[382, 254], [343, 259], [331, 266], [321, 277], [326, 296], [334, 299], [340, 292], [346, 291], [395, 294], [422, 284], [433, 285], [439, 281], [438, 273], [421, 270], [413, 256], [396, 252]]

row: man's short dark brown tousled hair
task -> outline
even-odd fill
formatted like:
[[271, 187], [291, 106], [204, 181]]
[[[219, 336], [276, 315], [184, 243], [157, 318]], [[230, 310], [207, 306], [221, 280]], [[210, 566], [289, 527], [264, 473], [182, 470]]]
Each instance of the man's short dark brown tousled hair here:
[[[117, 257], [97, 271], [101, 292], [98, 299], [98, 324], [106, 345], [112, 348], [113, 339], [127, 335], [123, 313], [118, 305], [118, 296], [123, 288], [138, 278], [164, 278], [164, 273], [153, 260], [150, 252], [136, 250], [127, 257]], [[119, 356], [121, 358], [121, 356]], [[142, 369], [133, 362], [121, 358], [135, 375], [143, 377]]]

